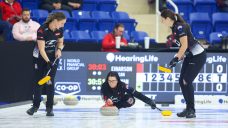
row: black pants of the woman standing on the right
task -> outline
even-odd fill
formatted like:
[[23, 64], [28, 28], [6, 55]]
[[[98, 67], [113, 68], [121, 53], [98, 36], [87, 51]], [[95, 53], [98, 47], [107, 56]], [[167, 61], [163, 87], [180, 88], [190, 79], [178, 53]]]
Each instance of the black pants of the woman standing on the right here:
[[179, 84], [186, 101], [186, 109], [195, 110], [194, 87], [192, 82], [206, 62], [206, 52], [184, 59]]

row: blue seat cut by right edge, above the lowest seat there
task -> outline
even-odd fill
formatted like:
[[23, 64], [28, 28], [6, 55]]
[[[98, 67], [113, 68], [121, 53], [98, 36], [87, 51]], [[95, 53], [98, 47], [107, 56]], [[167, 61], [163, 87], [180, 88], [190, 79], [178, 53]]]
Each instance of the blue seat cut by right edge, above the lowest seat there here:
[[214, 13], [212, 20], [215, 32], [228, 32], [228, 13]]

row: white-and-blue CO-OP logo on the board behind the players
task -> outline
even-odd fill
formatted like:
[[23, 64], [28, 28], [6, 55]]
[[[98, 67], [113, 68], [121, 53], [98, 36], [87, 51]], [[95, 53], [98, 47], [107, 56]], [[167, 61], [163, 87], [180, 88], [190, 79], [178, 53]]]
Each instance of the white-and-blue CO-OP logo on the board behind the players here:
[[64, 95], [64, 94], [70, 94], [74, 95], [79, 92], [81, 92], [79, 82], [56, 82], [55, 83], [55, 92]]

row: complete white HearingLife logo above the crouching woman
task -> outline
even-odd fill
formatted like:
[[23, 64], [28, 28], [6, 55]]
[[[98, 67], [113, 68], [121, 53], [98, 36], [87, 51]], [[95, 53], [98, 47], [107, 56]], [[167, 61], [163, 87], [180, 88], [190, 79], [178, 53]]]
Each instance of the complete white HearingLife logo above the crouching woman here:
[[137, 55], [131, 55], [131, 56], [123, 56], [123, 55], [115, 55], [113, 53], [108, 53], [106, 55], [106, 59], [109, 62], [157, 62], [158, 57], [154, 55], [144, 55], [144, 56], [137, 56]]

